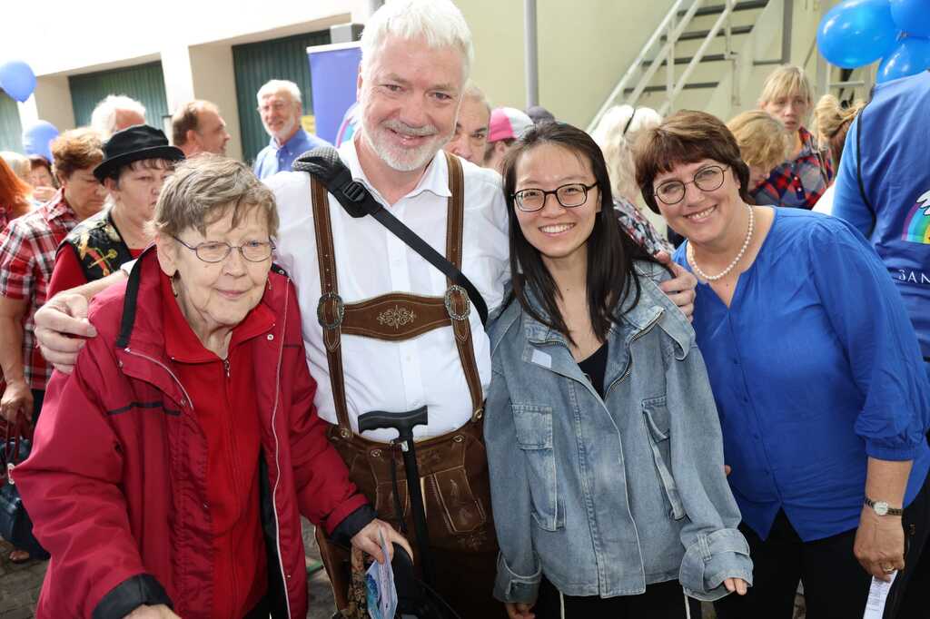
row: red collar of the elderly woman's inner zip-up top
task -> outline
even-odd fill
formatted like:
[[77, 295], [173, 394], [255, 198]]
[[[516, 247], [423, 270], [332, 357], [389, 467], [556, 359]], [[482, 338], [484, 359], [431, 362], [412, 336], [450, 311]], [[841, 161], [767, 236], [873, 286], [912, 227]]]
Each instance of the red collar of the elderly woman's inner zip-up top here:
[[[180, 306], [171, 291], [171, 280], [163, 270], [158, 270], [161, 279], [162, 306], [164, 311], [165, 351], [173, 361], [186, 363], [215, 362], [216, 353], [208, 350], [193, 333], [190, 323], [184, 318]], [[233, 327], [229, 350], [239, 343], [259, 336], [274, 326], [274, 315], [264, 303], [260, 303], [246, 314], [246, 319]]]

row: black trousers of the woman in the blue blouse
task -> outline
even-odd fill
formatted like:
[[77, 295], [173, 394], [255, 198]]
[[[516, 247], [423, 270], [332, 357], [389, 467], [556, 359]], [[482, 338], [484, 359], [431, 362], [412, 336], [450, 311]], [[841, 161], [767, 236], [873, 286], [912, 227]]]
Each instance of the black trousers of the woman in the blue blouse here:
[[[923, 547], [930, 530], [927, 483], [904, 510], [905, 568], [897, 574], [885, 605], [885, 619], [925, 619], [928, 611], [926, 578], [930, 562]], [[744, 524], [752, 557], [752, 586], [745, 596], [730, 595], [714, 603], [718, 619], [791, 619], [798, 581], [804, 583], [807, 619], [861, 617], [871, 576], [853, 554], [856, 530], [804, 542], [779, 511], [768, 538], [762, 540]], [[914, 585], [909, 586], [913, 580]], [[930, 583], [926, 583], [930, 584]]]

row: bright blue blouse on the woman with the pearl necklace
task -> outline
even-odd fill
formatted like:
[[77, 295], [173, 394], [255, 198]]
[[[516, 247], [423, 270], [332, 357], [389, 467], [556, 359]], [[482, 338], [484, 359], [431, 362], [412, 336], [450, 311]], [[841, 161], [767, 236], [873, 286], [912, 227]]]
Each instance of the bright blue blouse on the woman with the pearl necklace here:
[[761, 537], [779, 509], [804, 541], [855, 529], [867, 456], [913, 460], [905, 505], [920, 490], [930, 384], [897, 288], [852, 226], [776, 208], [729, 308], [698, 283], [694, 327], [730, 486]]

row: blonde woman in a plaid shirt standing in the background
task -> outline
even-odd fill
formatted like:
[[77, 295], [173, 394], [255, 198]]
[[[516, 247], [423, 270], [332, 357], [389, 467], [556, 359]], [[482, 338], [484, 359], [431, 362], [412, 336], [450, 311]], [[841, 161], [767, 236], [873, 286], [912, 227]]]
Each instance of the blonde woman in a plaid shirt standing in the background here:
[[793, 137], [788, 159], [777, 165], [763, 183], [751, 191], [756, 204], [811, 209], [833, 179], [830, 157], [820, 151], [817, 139], [804, 128], [814, 91], [804, 70], [778, 67], [767, 78], [759, 108], [775, 116]]

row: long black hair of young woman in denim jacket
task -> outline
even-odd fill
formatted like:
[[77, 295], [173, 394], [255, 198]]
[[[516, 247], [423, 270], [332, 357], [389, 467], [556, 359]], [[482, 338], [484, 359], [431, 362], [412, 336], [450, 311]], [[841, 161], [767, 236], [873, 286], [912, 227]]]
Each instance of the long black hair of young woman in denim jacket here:
[[[559, 290], [551, 273], [542, 262], [539, 252], [526, 241], [516, 216], [513, 193], [516, 191], [516, 168], [526, 152], [543, 144], [560, 146], [573, 152], [579, 159], [591, 164], [600, 192], [601, 210], [594, 219], [594, 228], [586, 241], [588, 245], [587, 296], [591, 315], [591, 328], [600, 341], [605, 341], [612, 323], [639, 303], [640, 283], [633, 268], [634, 260], [655, 262], [630, 235], [620, 230], [614, 212], [610, 178], [604, 153], [587, 133], [565, 123], [543, 123], [531, 127], [504, 159], [504, 199], [510, 219], [512, 298], [539, 323], [562, 333], [574, 344], [568, 333], [556, 299]], [[527, 298], [531, 292], [538, 299], [546, 315], [534, 310]], [[627, 299], [631, 298], [631, 302]], [[509, 299], [512, 300], [512, 299]]]

